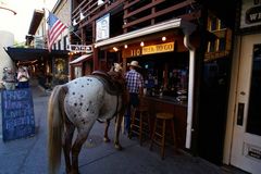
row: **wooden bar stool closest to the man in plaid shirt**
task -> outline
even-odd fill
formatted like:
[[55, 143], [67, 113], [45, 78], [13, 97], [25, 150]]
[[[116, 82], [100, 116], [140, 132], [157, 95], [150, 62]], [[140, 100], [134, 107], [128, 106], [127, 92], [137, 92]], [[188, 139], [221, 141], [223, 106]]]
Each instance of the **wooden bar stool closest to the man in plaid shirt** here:
[[142, 145], [144, 135], [150, 138], [150, 121], [147, 105], [138, 105], [133, 110], [129, 138], [133, 137], [133, 134], [138, 135], [140, 146]]

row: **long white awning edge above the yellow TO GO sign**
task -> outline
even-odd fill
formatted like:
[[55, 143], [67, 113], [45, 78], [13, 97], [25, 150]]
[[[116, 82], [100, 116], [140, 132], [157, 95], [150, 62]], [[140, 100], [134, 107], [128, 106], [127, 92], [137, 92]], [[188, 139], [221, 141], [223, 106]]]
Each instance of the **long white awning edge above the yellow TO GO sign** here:
[[102, 47], [102, 46], [108, 46], [108, 45], [113, 45], [116, 42], [121, 42], [121, 41], [125, 41], [125, 40], [130, 40], [130, 39], [135, 39], [135, 38], [139, 38], [146, 35], [151, 35], [158, 32], [164, 32], [167, 29], [173, 29], [173, 28], [182, 28], [182, 29], [191, 29], [195, 30], [196, 25], [189, 22], [186, 22], [182, 18], [175, 18], [175, 20], [171, 20], [167, 22], [163, 22], [160, 24], [156, 24], [152, 26], [148, 26], [141, 29], [137, 29], [134, 32], [129, 32], [127, 34], [123, 34], [116, 37], [112, 37], [110, 39], [103, 40], [103, 41], [99, 41], [97, 44], [95, 44], [95, 48], [98, 47]]

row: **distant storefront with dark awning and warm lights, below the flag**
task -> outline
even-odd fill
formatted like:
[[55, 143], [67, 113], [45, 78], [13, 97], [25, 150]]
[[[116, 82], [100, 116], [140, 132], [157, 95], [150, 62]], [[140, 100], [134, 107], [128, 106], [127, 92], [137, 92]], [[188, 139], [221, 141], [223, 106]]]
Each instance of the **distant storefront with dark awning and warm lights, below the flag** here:
[[67, 82], [67, 51], [30, 48], [11, 48], [7, 50], [15, 64], [27, 66], [32, 78], [37, 78], [40, 86], [51, 88]]

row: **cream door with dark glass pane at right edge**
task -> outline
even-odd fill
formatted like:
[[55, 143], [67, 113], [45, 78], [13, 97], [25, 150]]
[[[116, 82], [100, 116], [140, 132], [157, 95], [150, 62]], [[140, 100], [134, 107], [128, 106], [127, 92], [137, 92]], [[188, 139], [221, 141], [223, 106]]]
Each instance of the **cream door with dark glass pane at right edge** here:
[[261, 34], [241, 37], [231, 164], [261, 171]]

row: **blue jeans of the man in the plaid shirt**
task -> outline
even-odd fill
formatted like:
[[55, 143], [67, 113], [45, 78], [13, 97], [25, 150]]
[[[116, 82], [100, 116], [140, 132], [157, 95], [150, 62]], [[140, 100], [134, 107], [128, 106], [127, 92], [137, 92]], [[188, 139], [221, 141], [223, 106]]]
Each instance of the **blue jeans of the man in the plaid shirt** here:
[[124, 116], [124, 127], [125, 132], [128, 133], [130, 128], [130, 112], [132, 108], [136, 108], [139, 104], [138, 94], [129, 94], [129, 102], [127, 104], [127, 110]]

